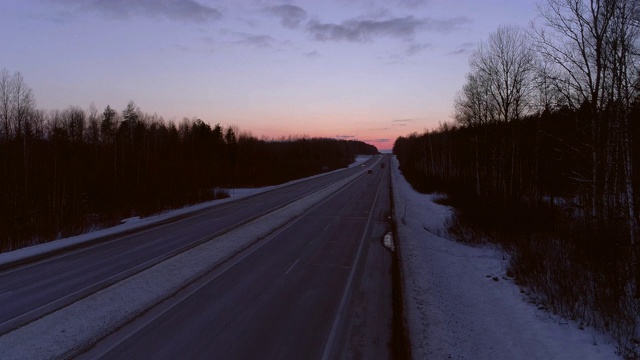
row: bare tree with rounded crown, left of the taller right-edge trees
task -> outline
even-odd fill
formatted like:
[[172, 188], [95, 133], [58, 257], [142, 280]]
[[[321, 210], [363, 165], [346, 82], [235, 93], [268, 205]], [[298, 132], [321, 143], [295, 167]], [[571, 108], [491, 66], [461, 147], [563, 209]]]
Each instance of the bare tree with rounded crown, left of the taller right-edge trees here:
[[[522, 29], [498, 28], [486, 42], [480, 43], [469, 65], [471, 72], [454, 105], [458, 123], [466, 126], [508, 123], [520, 120], [530, 111], [536, 75], [535, 56], [529, 37]], [[492, 149], [479, 148], [478, 134], [474, 142], [476, 195], [489, 191], [515, 196], [515, 139], [496, 144]], [[482, 161], [481, 157], [492, 161]], [[486, 171], [481, 169], [483, 166], [488, 167], [484, 169]], [[491, 184], [483, 184], [481, 173], [495, 175], [487, 177]]]

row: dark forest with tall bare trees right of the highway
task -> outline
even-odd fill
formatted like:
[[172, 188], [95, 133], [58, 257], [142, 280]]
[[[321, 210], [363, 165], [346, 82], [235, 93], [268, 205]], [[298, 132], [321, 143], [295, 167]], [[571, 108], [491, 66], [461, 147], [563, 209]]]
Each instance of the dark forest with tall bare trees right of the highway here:
[[454, 121], [394, 144], [456, 209], [453, 238], [495, 243], [529, 301], [640, 344], [640, 3], [546, 0], [469, 58]]

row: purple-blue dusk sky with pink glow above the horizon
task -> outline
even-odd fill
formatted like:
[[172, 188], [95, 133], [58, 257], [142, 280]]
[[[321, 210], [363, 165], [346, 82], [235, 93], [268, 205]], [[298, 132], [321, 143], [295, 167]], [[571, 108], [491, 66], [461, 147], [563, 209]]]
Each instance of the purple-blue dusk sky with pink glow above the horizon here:
[[390, 149], [451, 121], [468, 58], [536, 0], [0, 0], [0, 70], [38, 108], [198, 118]]

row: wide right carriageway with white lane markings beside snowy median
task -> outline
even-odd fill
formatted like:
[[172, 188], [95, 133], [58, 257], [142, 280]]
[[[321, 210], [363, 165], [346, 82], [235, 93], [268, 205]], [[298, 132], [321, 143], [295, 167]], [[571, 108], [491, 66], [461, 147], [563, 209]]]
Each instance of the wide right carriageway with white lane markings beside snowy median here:
[[388, 174], [374, 167], [80, 358], [392, 358]]

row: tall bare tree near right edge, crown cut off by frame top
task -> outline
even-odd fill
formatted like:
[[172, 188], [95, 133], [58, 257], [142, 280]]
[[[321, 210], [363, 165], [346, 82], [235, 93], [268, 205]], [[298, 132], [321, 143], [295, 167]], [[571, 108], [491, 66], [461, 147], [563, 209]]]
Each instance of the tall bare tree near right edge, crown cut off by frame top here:
[[[602, 116], [607, 96], [606, 38], [615, 0], [547, 0], [538, 12], [544, 27], [534, 27], [537, 49], [553, 64], [557, 89], [574, 108], [588, 104], [591, 116], [591, 203], [585, 212], [600, 219], [604, 207]], [[586, 205], [586, 204], [585, 204]]]

